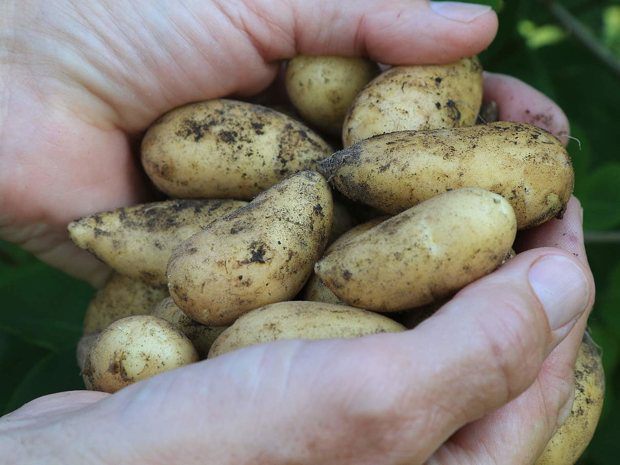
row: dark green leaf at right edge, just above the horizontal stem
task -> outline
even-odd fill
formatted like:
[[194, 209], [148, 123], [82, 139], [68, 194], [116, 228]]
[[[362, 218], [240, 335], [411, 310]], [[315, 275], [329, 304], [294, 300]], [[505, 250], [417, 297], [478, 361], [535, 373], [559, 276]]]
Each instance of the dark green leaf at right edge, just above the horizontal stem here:
[[611, 229], [618, 226], [620, 163], [606, 163], [585, 179], [575, 179], [575, 195], [582, 202], [585, 229]]

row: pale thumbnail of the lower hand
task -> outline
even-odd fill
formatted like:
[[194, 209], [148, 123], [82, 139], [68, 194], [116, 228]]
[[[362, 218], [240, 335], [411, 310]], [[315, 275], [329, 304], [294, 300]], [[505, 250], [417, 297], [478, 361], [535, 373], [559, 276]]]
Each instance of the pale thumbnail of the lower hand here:
[[549, 319], [551, 330], [572, 321], [588, 304], [588, 281], [581, 268], [559, 255], [547, 255], [529, 268], [529, 283]]

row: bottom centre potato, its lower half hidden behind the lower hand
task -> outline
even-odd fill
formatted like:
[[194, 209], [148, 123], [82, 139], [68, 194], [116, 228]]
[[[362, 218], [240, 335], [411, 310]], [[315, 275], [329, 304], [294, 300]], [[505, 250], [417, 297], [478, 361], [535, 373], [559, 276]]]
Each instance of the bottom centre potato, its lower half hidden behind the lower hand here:
[[404, 330], [392, 319], [359, 308], [321, 302], [280, 302], [239, 317], [215, 340], [209, 358], [273, 340], [348, 338]]

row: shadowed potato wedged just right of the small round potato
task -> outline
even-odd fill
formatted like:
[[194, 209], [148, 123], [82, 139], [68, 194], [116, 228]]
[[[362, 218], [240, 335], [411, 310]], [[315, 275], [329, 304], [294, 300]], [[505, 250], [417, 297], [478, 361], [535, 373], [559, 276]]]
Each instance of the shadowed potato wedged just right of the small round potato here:
[[151, 315], [163, 318], [182, 330], [183, 334], [192, 341], [200, 359], [206, 358], [213, 341], [228, 327], [208, 326], [192, 320], [177, 307], [170, 296], [157, 303]]

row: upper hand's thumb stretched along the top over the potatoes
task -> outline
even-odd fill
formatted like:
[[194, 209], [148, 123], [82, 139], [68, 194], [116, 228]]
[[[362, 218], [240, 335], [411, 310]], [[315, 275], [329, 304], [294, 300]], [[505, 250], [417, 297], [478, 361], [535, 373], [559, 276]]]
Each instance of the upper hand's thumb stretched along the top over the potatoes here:
[[[244, 22], [266, 61], [367, 55], [388, 64], [448, 63], [484, 50], [497, 32], [489, 6], [453, 1], [261, 1]], [[283, 13], [283, 11], [285, 11]]]

